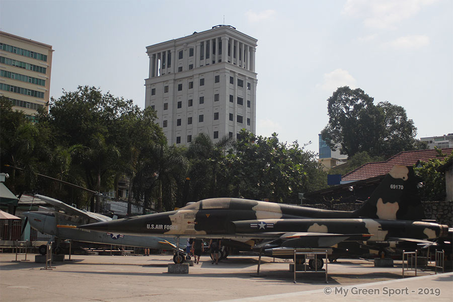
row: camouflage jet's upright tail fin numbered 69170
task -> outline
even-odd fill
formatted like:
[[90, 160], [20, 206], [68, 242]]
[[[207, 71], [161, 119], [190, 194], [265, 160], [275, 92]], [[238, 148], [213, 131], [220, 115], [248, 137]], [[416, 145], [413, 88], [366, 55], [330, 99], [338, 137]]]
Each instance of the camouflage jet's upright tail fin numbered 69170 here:
[[413, 167], [396, 165], [353, 215], [379, 219], [425, 219], [418, 183]]

